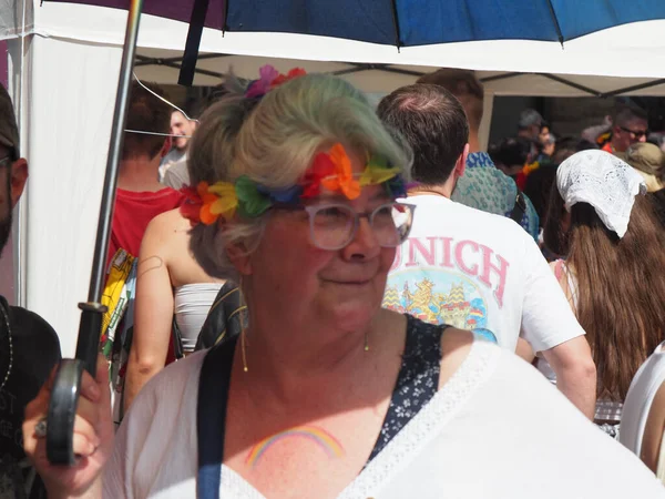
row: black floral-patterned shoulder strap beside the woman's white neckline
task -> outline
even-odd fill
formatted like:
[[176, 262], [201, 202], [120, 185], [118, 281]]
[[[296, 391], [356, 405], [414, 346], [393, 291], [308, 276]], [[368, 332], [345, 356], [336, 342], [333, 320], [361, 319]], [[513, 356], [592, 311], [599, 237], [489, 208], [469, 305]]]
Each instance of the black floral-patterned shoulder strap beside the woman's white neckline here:
[[368, 462], [432, 399], [439, 389], [441, 334], [447, 327], [447, 325], [427, 324], [407, 315], [407, 339], [402, 364], [381, 432]]

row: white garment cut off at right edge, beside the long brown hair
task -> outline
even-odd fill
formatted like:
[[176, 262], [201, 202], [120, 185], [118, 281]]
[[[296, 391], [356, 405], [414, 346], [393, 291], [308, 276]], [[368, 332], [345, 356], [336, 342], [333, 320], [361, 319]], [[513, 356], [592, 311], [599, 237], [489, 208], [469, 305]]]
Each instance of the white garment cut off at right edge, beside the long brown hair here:
[[646, 419], [656, 391], [665, 381], [665, 342], [637, 369], [624, 401], [618, 441], [635, 452], [642, 452]]

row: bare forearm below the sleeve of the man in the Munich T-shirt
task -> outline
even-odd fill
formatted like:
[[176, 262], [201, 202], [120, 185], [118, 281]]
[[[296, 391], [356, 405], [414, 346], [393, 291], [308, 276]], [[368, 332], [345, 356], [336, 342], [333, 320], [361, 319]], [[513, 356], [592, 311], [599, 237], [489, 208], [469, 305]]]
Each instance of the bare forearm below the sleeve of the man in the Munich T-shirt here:
[[545, 360], [556, 374], [556, 387], [589, 419], [593, 420], [596, 401], [596, 370], [584, 336], [569, 339], [549, 350]]

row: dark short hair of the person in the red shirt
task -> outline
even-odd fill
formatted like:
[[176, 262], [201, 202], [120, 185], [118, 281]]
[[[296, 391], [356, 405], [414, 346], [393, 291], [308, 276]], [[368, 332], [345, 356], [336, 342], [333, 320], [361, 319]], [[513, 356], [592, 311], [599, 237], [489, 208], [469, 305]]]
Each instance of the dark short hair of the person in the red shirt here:
[[[155, 83], [143, 83], [154, 93], [164, 96], [162, 88]], [[157, 96], [145, 90], [139, 82], [132, 83], [130, 109], [127, 112], [127, 130], [167, 134], [171, 129], [172, 108]], [[164, 135], [150, 135], [145, 133], [125, 133], [123, 159], [147, 155], [154, 157], [164, 146]]]

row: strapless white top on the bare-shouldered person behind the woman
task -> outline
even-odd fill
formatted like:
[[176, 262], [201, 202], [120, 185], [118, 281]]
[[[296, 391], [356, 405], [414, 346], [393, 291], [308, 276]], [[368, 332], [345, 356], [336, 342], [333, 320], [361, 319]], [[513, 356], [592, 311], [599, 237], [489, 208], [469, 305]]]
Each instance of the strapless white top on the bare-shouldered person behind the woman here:
[[175, 323], [185, 352], [194, 352], [203, 323], [221, 287], [219, 283], [200, 283], [175, 288]]

